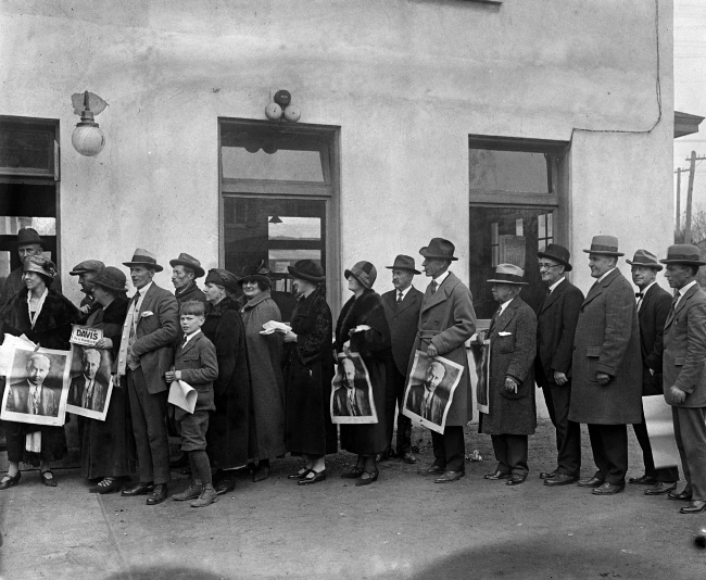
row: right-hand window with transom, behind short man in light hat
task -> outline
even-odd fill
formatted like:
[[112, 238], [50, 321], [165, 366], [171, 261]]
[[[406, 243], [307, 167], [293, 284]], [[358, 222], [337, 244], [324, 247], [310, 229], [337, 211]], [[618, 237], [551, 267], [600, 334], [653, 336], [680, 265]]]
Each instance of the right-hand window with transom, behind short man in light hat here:
[[529, 283], [521, 297], [532, 308], [544, 299], [537, 252], [555, 241], [557, 219], [566, 237], [560, 187], [566, 151], [567, 144], [556, 141], [469, 138], [469, 283], [479, 319], [490, 319], [497, 308], [487, 282], [497, 264], [525, 270]]

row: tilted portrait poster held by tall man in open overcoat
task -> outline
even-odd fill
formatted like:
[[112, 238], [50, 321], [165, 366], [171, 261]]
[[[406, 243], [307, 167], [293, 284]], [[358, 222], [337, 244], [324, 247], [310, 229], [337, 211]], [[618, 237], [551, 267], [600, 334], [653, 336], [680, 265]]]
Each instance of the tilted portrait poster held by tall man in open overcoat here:
[[463, 373], [464, 367], [449, 358], [417, 351], [404, 391], [402, 414], [417, 425], [443, 433]]

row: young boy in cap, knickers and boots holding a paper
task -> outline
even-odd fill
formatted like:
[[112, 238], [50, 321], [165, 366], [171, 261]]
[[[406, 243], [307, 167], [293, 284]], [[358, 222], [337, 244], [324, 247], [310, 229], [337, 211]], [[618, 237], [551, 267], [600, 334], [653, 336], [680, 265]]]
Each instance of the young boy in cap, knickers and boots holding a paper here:
[[181, 451], [188, 453], [192, 481], [186, 491], [173, 496], [177, 502], [196, 500], [191, 507], [205, 507], [218, 500], [211, 479], [211, 463], [206, 455], [206, 431], [210, 413], [216, 407], [213, 403], [213, 381], [218, 377], [216, 348], [201, 332], [205, 320], [205, 306], [202, 302], [189, 301], [179, 311], [184, 340], [177, 346], [174, 367], [165, 378], [172, 383], [182, 380], [198, 392], [193, 413], [174, 407], [174, 418], [181, 428]]

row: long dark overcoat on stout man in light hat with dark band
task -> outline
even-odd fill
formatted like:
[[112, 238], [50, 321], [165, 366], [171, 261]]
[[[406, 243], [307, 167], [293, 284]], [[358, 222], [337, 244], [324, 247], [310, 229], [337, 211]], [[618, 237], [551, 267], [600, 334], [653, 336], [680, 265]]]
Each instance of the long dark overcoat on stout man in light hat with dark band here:
[[[628, 425], [642, 420], [642, 355], [635, 295], [618, 268], [589, 290], [576, 327], [569, 420]], [[597, 373], [610, 376], [606, 386]]]

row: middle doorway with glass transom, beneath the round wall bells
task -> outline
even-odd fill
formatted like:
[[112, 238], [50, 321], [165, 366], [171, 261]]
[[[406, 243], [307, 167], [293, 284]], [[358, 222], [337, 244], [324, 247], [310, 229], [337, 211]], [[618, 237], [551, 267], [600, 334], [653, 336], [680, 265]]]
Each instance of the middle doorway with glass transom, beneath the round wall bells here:
[[[336, 127], [220, 121], [222, 263], [239, 275], [264, 261], [285, 320], [294, 307], [287, 266], [314, 260], [338, 282], [337, 144]], [[335, 307], [338, 283], [327, 292]]]

